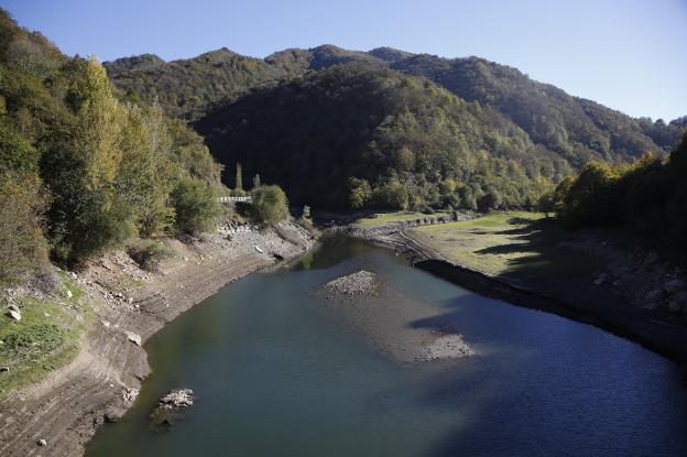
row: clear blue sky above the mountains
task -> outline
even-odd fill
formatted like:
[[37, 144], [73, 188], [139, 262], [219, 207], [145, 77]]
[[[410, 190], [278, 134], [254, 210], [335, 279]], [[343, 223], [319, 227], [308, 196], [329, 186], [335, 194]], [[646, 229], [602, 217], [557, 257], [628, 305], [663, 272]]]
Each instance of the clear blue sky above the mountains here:
[[687, 0], [0, 0], [65, 53], [264, 57], [330, 43], [477, 55], [631, 116], [687, 115]]

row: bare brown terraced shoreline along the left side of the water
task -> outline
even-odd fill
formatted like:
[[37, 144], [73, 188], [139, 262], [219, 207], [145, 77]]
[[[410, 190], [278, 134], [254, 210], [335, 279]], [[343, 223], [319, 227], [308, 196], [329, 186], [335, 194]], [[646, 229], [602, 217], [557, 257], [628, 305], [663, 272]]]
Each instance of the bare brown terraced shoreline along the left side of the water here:
[[[89, 268], [80, 280], [100, 305], [98, 320], [81, 341], [69, 364], [51, 372], [39, 383], [13, 392], [0, 402], [0, 455], [77, 456], [107, 420], [121, 417], [133, 401], [130, 389], [140, 389], [150, 376], [148, 355], [127, 337], [144, 344], [165, 324], [211, 296], [228, 283], [275, 264], [275, 258], [293, 259], [313, 244], [313, 238], [295, 225], [285, 224], [258, 232], [246, 227], [232, 233], [216, 233], [184, 247], [184, 255], [161, 273], [150, 273], [146, 284], [118, 294], [99, 278], [113, 278], [120, 270], [112, 261]], [[260, 252], [254, 246], [262, 246]], [[273, 255], [276, 254], [276, 255]], [[112, 255], [115, 257], [115, 255]], [[99, 270], [101, 275], [98, 274]], [[130, 264], [121, 271], [131, 271]], [[46, 439], [45, 447], [37, 446]]]

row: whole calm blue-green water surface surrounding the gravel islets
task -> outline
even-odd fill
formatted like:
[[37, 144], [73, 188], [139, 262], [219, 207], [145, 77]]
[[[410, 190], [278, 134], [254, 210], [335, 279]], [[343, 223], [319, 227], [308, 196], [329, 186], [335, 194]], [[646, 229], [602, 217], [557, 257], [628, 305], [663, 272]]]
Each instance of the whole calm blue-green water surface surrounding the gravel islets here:
[[[411, 366], [380, 356], [313, 295], [361, 268], [436, 305], [408, 326], [455, 324], [480, 356]], [[687, 455], [687, 390], [673, 363], [349, 239], [228, 285], [145, 348], [153, 374], [88, 457]], [[149, 414], [174, 388], [197, 402], [155, 432]]]

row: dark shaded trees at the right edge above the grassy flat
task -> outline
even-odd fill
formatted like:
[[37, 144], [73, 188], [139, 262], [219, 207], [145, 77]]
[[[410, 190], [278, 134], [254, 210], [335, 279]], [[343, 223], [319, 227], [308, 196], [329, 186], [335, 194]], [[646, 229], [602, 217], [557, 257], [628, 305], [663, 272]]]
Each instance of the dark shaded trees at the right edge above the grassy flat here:
[[652, 244], [677, 248], [684, 255], [687, 134], [667, 161], [646, 154], [633, 163], [589, 162], [578, 176], [545, 194], [539, 208], [569, 228], [632, 227]]

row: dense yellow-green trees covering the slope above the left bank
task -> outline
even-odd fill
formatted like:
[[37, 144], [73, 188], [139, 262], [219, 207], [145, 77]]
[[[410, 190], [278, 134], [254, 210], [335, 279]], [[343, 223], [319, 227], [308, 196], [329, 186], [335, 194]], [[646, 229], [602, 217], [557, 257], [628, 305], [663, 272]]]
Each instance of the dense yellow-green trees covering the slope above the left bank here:
[[124, 101], [95, 57], [0, 11], [0, 281], [210, 227], [220, 171], [184, 122]]

